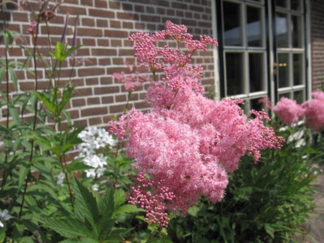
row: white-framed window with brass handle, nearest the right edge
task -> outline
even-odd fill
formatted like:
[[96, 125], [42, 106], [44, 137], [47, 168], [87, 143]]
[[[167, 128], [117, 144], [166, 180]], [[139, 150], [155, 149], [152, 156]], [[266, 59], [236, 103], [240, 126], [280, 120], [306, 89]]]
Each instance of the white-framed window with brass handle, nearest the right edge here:
[[301, 0], [277, 0], [275, 4], [278, 99], [305, 100], [304, 22]]

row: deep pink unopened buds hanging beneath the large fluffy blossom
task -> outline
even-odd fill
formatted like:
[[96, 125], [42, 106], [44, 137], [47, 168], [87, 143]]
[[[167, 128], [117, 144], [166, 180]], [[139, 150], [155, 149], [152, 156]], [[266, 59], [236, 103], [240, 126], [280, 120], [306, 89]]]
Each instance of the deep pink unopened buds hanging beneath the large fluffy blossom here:
[[146, 211], [145, 220], [150, 225], [167, 228], [170, 219], [165, 202], [172, 201], [175, 195], [164, 186], [164, 180], [152, 181], [143, 173], [139, 173], [136, 183], [137, 186], [132, 187], [129, 203]]

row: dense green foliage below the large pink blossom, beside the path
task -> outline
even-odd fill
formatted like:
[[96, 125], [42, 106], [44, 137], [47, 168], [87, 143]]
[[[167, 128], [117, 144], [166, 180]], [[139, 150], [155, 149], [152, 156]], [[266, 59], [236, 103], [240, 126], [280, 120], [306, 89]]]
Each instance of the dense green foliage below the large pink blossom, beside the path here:
[[[296, 134], [282, 132], [287, 140]], [[314, 210], [311, 186], [316, 179], [310, 143], [287, 142], [281, 150], [266, 150], [258, 164], [244, 157], [229, 178], [224, 199], [202, 201], [188, 216], [171, 220], [175, 242], [291, 242], [307, 234], [303, 223]]]

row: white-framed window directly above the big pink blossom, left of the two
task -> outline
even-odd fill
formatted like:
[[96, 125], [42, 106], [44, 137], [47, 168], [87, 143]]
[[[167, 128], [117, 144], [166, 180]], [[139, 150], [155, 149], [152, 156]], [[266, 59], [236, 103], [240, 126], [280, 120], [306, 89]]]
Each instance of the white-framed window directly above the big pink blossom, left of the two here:
[[259, 109], [268, 94], [264, 1], [223, 0], [221, 13], [225, 96]]

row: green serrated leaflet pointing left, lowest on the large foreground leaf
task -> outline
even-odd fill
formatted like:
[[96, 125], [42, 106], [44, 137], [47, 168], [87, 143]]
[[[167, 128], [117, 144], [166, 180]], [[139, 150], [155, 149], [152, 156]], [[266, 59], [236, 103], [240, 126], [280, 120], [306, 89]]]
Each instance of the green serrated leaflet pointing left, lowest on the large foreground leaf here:
[[76, 219], [59, 219], [47, 222], [45, 227], [50, 228], [58, 232], [60, 235], [67, 238], [74, 238], [79, 236], [93, 237], [93, 232], [88, 229], [84, 223]]

